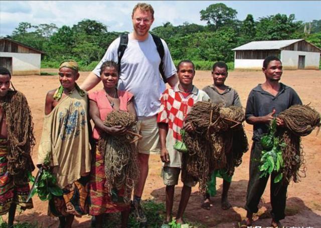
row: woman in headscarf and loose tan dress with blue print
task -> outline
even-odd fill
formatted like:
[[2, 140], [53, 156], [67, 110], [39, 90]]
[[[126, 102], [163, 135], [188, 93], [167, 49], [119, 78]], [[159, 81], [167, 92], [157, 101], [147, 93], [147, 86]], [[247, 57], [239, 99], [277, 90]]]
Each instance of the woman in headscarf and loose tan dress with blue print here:
[[61, 63], [61, 86], [47, 93], [44, 128], [38, 151], [38, 166], [47, 154], [50, 167], [63, 189], [63, 196], [49, 200], [49, 215], [59, 216], [60, 227], [71, 227], [74, 215], [88, 212], [90, 172], [89, 118], [87, 93], [76, 84], [78, 64]]

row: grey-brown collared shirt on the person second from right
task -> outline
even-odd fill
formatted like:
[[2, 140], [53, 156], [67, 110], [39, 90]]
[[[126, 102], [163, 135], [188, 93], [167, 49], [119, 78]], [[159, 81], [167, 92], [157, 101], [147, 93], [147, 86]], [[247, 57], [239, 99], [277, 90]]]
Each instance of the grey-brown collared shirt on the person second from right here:
[[242, 106], [240, 97], [236, 90], [229, 86], [223, 93], [219, 93], [214, 85], [204, 87], [203, 91], [209, 95], [211, 102], [214, 104], [224, 103], [224, 107], [229, 107], [232, 105]]

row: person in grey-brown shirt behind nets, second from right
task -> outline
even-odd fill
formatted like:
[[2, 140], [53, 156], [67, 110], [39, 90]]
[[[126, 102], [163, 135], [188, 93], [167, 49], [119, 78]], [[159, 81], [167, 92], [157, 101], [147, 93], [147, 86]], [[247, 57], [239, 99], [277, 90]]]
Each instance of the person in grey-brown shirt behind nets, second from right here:
[[[225, 85], [225, 80], [228, 76], [227, 65], [224, 62], [217, 62], [213, 65], [212, 69], [213, 85], [203, 88], [203, 91], [209, 95], [211, 102], [214, 104], [222, 104], [223, 107], [242, 106], [240, 97], [236, 90]], [[215, 178], [223, 178], [221, 207], [222, 209], [228, 209], [231, 207], [231, 204], [228, 201], [228, 191], [231, 185], [232, 176], [227, 173], [227, 169], [225, 167], [220, 169], [212, 167], [212, 170], [213, 169], [215, 169]], [[214, 188], [216, 188], [216, 186], [214, 186]], [[210, 205], [210, 194], [206, 193], [206, 195], [204, 195], [202, 207], [205, 209], [210, 209]]]

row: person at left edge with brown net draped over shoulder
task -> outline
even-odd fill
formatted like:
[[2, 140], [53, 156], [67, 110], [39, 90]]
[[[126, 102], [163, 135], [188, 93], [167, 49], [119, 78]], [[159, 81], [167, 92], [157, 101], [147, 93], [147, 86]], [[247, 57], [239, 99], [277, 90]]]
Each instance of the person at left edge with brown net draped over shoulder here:
[[9, 211], [14, 226], [17, 205], [33, 208], [27, 174], [35, 169], [31, 151], [35, 145], [31, 111], [26, 97], [11, 90], [11, 74], [0, 67], [0, 215]]

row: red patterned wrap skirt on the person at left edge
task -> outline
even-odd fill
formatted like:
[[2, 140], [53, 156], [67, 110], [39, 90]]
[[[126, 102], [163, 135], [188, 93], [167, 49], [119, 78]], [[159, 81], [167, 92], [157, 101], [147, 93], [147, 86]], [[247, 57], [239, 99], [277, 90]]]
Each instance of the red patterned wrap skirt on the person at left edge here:
[[29, 183], [14, 185], [13, 177], [8, 172], [7, 139], [0, 139], [0, 215], [6, 214], [12, 203], [21, 209], [33, 208], [32, 199], [27, 202], [30, 191]]

